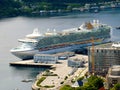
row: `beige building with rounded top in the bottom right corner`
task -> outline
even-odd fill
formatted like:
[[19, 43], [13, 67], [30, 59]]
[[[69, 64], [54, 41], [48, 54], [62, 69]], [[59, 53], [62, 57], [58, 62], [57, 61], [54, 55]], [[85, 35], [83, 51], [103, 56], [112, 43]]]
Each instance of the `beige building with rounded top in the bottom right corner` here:
[[120, 82], [120, 65], [110, 67], [106, 78], [109, 89], [113, 87], [114, 84]]

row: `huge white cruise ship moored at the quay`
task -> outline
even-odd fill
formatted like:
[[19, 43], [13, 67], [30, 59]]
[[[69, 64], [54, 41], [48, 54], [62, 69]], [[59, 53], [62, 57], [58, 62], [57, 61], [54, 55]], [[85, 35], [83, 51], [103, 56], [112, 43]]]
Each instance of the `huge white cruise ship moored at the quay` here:
[[102, 24], [99, 20], [85, 22], [78, 28], [62, 30], [61, 32], [47, 31], [40, 34], [34, 29], [32, 34], [26, 35], [24, 39], [18, 39], [22, 44], [10, 50], [10, 52], [23, 59], [31, 59], [37, 53], [53, 54], [64, 51], [75, 51], [94, 44], [105, 43], [110, 40], [111, 27]]

